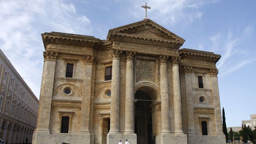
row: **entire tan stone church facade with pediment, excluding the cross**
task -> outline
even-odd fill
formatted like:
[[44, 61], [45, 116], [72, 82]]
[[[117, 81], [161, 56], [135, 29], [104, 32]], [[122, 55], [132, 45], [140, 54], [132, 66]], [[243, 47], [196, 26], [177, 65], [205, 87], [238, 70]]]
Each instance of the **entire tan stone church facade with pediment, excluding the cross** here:
[[107, 40], [43, 33], [43, 76], [33, 144], [225, 144], [220, 55], [144, 19]]

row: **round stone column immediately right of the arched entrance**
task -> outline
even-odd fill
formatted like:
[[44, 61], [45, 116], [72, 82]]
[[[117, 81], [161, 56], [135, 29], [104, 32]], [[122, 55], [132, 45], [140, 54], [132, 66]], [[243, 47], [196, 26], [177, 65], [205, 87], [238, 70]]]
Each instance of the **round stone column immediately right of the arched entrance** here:
[[170, 107], [169, 107], [169, 92], [167, 78], [167, 56], [160, 56], [160, 95], [161, 95], [161, 134], [170, 134]]

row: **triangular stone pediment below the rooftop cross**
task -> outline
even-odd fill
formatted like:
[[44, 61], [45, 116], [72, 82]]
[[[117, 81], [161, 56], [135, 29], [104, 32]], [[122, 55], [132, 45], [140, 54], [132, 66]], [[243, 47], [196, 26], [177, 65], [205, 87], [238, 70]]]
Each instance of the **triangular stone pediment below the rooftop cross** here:
[[156, 22], [150, 19], [144, 19], [143, 21], [139, 21], [133, 24], [120, 26], [118, 28], [113, 28], [108, 32], [108, 37], [107, 37], [108, 39], [110, 38], [111, 33], [128, 34], [128, 35], [137, 36], [137, 37], [165, 39], [165, 40], [177, 41], [182, 44], [185, 41], [178, 35], [175, 35], [171, 31], [158, 25]]

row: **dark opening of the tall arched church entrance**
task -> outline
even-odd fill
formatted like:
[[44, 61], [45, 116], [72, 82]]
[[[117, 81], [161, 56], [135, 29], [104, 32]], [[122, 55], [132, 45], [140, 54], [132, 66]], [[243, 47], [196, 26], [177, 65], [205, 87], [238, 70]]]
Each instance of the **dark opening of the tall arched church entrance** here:
[[135, 93], [135, 125], [137, 144], [154, 144], [155, 137], [152, 135], [152, 103], [151, 97], [143, 91]]

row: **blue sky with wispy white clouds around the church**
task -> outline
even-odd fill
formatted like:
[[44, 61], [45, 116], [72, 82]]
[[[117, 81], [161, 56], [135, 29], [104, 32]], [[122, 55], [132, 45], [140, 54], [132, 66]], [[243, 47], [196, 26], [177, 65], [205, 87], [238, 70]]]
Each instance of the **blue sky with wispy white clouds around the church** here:
[[[148, 18], [186, 41], [221, 54], [217, 68], [227, 127], [256, 114], [256, 0], [148, 0]], [[39, 98], [41, 33], [105, 40], [108, 30], [141, 21], [144, 0], [0, 0], [0, 49]]]

